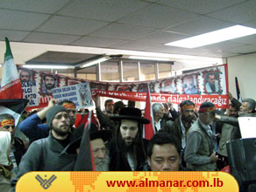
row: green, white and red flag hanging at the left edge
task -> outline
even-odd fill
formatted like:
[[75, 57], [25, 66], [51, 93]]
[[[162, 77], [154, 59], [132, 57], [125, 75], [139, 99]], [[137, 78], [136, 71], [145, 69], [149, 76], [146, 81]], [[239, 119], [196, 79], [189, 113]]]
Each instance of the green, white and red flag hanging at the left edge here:
[[5, 38], [4, 73], [1, 82], [0, 99], [22, 99], [23, 92], [14, 63], [8, 38]]

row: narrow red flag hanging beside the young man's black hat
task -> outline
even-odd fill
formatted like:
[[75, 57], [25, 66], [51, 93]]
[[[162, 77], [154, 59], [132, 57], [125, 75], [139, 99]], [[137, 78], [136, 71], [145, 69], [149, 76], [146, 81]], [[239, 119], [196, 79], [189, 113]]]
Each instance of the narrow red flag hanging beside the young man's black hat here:
[[146, 140], [151, 140], [151, 138], [155, 134], [155, 131], [153, 126], [153, 110], [152, 110], [152, 104], [151, 104], [150, 89], [148, 85], [147, 85], [147, 92], [146, 92], [146, 107], [145, 107], [144, 117], [150, 120], [150, 123], [144, 125], [143, 127], [143, 138], [145, 138]]

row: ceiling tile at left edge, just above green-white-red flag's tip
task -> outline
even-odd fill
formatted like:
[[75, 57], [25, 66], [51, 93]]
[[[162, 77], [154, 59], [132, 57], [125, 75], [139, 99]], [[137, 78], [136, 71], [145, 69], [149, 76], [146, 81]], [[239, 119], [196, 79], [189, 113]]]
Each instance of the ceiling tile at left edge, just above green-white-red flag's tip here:
[[29, 32], [27, 31], [8, 31], [0, 30], [0, 40], [4, 41], [4, 38], [9, 38], [10, 41], [21, 41], [25, 38]]

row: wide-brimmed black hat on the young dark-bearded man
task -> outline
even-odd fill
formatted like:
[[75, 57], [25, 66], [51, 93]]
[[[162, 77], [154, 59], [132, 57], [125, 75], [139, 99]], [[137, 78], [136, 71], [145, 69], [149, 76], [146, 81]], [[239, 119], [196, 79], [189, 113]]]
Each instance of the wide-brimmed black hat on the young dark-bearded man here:
[[111, 120], [135, 120], [141, 124], [149, 124], [150, 120], [141, 117], [141, 110], [134, 107], [124, 107], [121, 109], [119, 115], [110, 116]]

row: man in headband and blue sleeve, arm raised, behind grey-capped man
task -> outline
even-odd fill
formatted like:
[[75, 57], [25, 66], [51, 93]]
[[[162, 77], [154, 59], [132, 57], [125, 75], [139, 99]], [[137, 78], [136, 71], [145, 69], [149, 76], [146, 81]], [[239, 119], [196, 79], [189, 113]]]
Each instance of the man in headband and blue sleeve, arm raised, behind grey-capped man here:
[[[56, 105], [57, 100], [51, 99], [44, 109], [38, 113], [32, 114], [27, 119], [23, 120], [18, 128], [25, 134], [30, 141], [36, 141], [42, 138], [46, 138], [49, 135], [50, 128], [46, 124], [42, 124], [42, 120], [46, 118], [46, 113]], [[75, 124], [75, 104], [72, 101], [64, 100], [61, 101], [58, 106], [63, 106], [68, 111], [68, 116], [70, 118], [70, 131], [73, 131], [73, 126]]]

